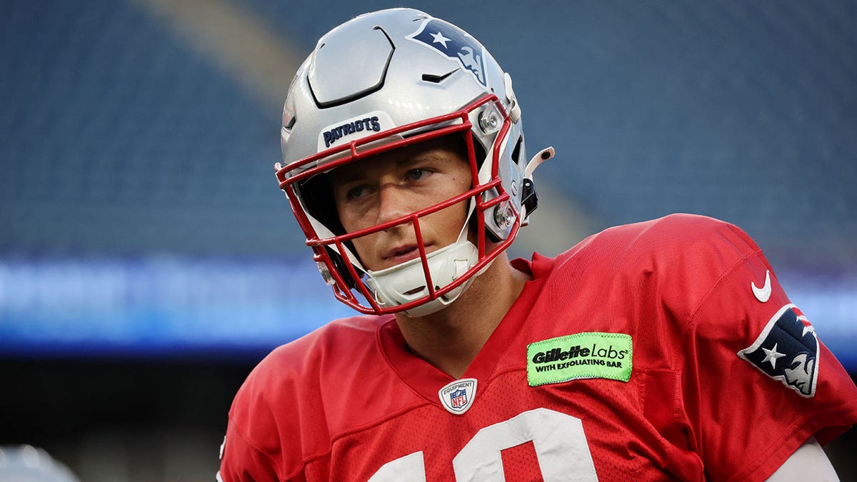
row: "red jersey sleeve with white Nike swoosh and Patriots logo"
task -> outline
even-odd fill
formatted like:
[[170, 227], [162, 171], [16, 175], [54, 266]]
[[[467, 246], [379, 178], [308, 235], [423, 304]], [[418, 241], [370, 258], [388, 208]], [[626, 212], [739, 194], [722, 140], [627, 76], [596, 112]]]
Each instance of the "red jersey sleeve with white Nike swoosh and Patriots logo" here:
[[714, 238], [739, 254], [690, 313], [681, 406], [709, 479], [763, 480], [808, 437], [854, 425], [857, 388], [752, 239], [729, 225]]

